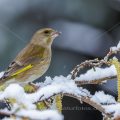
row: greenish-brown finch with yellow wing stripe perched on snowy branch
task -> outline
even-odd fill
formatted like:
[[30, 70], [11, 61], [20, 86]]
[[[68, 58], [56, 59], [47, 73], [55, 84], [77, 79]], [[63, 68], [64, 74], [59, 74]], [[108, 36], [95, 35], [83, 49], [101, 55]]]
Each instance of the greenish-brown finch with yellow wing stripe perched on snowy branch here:
[[60, 32], [52, 28], [38, 30], [9, 64], [0, 78], [0, 86], [11, 83], [24, 85], [40, 78], [50, 66], [51, 46], [53, 40], [59, 35]]

